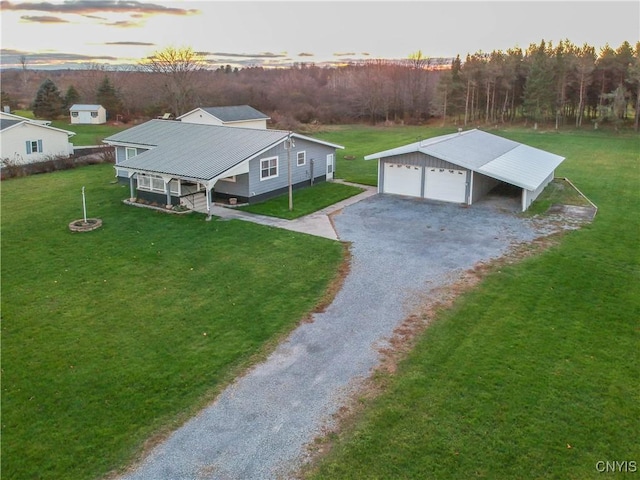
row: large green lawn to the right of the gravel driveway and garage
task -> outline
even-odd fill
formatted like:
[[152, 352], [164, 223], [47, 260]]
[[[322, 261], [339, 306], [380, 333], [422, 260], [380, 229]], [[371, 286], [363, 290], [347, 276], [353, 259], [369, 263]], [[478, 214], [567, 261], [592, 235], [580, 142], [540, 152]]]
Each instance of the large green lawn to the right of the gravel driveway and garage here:
[[602, 478], [598, 462], [637, 468], [638, 136], [496, 133], [565, 156], [557, 175], [598, 215], [441, 311], [309, 478], [588, 479]]

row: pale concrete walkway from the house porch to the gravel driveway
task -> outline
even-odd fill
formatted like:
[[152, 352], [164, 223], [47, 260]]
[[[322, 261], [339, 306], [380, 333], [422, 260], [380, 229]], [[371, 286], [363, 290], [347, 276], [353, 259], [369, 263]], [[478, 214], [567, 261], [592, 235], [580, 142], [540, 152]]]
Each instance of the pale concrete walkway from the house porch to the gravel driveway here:
[[223, 219], [245, 220], [247, 222], [259, 223], [260, 225], [283, 228], [285, 230], [292, 230], [294, 232], [307, 233], [309, 235], [329, 238], [331, 240], [339, 240], [339, 236], [335, 228], [333, 227], [331, 219], [329, 218], [330, 215], [377, 193], [376, 187], [355, 185], [347, 182], [340, 183], [364, 188], [365, 191], [359, 193], [358, 195], [330, 205], [327, 208], [323, 208], [322, 210], [318, 210], [317, 212], [297, 218], [295, 220], [285, 220], [283, 218], [257, 215], [255, 213], [245, 212], [236, 208], [221, 207], [218, 205], [214, 205], [211, 207], [211, 215]]

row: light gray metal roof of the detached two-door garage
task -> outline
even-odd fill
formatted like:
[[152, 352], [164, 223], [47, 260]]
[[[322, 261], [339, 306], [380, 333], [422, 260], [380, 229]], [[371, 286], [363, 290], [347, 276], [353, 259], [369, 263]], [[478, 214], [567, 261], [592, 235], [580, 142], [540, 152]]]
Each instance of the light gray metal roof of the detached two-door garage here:
[[564, 157], [474, 129], [433, 137], [364, 157], [420, 152], [527, 190], [535, 190]]

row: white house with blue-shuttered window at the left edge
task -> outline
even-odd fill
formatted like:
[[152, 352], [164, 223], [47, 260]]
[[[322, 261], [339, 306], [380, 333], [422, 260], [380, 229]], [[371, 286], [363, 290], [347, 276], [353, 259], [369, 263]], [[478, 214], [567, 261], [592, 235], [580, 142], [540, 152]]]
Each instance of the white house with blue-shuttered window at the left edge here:
[[[34, 121], [2, 113], [0, 116], [0, 159], [7, 164], [24, 165], [68, 157], [73, 154], [69, 139], [74, 132], [55, 128], [43, 121]], [[50, 123], [50, 122], [49, 122]]]

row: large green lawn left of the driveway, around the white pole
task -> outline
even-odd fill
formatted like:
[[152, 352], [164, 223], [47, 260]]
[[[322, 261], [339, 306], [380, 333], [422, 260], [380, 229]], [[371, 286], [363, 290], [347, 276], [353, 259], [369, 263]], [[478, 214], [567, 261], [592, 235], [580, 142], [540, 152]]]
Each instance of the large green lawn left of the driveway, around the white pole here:
[[[72, 233], [82, 218], [104, 225]], [[2, 476], [127, 465], [323, 297], [342, 246], [129, 207], [113, 167], [2, 182]]]

